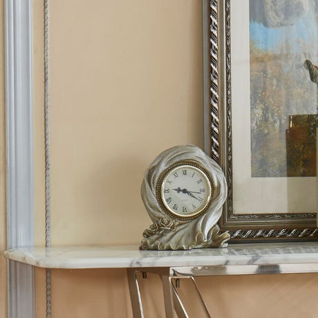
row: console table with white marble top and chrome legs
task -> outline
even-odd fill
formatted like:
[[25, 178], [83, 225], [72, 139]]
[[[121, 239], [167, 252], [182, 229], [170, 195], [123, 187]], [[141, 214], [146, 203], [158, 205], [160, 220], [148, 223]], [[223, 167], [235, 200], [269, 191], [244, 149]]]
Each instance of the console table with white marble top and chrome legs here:
[[23, 247], [5, 252], [7, 259], [40, 268], [127, 268], [133, 317], [144, 317], [139, 274], [160, 275], [166, 317], [188, 317], [178, 295], [180, 279], [190, 279], [207, 317], [211, 317], [196, 285], [197, 276], [318, 272], [318, 242], [233, 244], [221, 249], [142, 251], [137, 245], [104, 247]]

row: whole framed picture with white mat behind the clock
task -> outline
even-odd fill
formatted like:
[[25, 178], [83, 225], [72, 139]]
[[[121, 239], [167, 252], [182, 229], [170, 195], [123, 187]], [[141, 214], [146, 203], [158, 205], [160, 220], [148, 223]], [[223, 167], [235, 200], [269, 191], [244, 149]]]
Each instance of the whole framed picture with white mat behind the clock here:
[[[278, 3], [279, 2], [279, 3]], [[203, 0], [205, 151], [232, 242], [317, 240], [317, 0]]]

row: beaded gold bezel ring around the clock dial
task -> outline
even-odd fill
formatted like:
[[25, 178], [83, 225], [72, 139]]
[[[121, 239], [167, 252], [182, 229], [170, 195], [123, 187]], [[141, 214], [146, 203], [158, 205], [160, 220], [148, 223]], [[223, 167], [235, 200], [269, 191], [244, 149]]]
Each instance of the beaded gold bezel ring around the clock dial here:
[[[180, 166], [191, 166], [191, 167], [194, 167], [195, 169], [198, 169], [207, 179], [207, 185], [209, 186], [209, 196], [207, 196], [207, 200], [205, 202], [205, 205], [203, 205], [202, 209], [198, 210], [198, 212], [196, 212], [194, 214], [187, 215], [187, 216], [182, 216], [180, 214], [177, 214], [176, 212], [173, 212], [171, 209], [169, 209], [165, 205], [165, 202], [162, 199], [163, 181], [165, 180], [166, 176], [172, 170], [179, 169]], [[194, 218], [198, 218], [198, 216], [201, 216], [202, 214], [204, 214], [205, 211], [207, 211], [207, 209], [209, 208], [209, 205], [210, 205], [212, 197], [213, 197], [213, 192], [214, 192], [214, 188], [212, 187], [211, 178], [209, 177], [209, 174], [207, 174], [207, 171], [205, 171], [205, 169], [203, 169], [203, 167], [198, 165], [198, 163], [192, 162], [192, 161], [179, 161], [179, 162], [176, 162], [174, 165], [171, 165], [169, 168], [165, 169], [165, 171], [163, 171], [162, 174], [160, 174], [160, 177], [158, 179], [158, 183], [156, 186], [156, 198], [158, 200], [160, 208], [162, 209], [163, 212], [165, 212], [165, 214], [167, 214], [167, 216], [170, 216], [171, 218], [177, 219], [179, 221], [190, 221], [190, 220], [193, 220]]]

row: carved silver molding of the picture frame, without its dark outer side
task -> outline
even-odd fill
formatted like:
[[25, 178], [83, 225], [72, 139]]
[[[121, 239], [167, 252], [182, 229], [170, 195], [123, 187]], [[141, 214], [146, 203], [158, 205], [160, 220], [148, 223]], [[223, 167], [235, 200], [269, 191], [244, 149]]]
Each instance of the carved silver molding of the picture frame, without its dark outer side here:
[[[209, 154], [223, 167], [228, 187], [228, 198], [219, 225], [221, 230], [227, 230], [230, 233], [232, 241], [247, 241], [255, 238], [285, 240], [288, 238], [291, 240], [318, 238], [318, 230], [315, 226], [316, 213], [234, 214], [230, 9], [230, 0], [209, 1], [211, 81], [209, 90], [212, 94], [210, 99], [211, 129], [208, 132], [212, 144]], [[281, 228], [277, 228], [279, 220], [282, 221]], [[275, 222], [275, 227], [270, 222]], [[299, 223], [299, 227], [295, 225], [297, 223]]]

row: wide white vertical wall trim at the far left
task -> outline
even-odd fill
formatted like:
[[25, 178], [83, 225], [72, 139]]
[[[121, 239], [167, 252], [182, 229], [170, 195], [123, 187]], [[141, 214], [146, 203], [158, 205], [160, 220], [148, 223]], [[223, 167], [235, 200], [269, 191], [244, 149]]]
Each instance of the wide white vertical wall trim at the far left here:
[[[5, 1], [8, 249], [34, 245], [32, 1]], [[35, 317], [34, 270], [8, 261], [8, 317]]]

